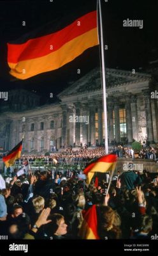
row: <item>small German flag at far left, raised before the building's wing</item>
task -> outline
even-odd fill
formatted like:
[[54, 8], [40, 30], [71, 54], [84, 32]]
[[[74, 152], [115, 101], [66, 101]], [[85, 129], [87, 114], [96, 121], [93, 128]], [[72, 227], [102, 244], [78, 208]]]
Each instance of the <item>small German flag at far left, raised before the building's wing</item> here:
[[3, 157], [3, 162], [7, 168], [13, 166], [15, 160], [20, 158], [22, 152], [22, 141], [20, 141], [17, 146], [15, 146], [6, 156]]

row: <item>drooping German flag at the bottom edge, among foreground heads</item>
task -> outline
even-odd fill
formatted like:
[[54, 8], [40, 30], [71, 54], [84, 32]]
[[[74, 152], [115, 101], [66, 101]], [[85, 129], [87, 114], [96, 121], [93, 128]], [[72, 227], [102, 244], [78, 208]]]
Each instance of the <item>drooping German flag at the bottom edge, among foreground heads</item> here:
[[78, 235], [82, 239], [99, 239], [97, 234], [96, 205], [92, 205], [87, 211], [82, 211], [83, 222]]

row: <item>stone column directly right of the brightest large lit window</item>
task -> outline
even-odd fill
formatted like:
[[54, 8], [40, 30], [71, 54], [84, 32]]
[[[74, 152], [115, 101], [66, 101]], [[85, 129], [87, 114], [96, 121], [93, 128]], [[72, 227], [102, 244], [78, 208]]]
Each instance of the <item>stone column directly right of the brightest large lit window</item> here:
[[127, 129], [127, 139], [128, 143], [133, 142], [133, 122], [132, 122], [132, 115], [131, 115], [131, 95], [126, 95], [125, 97], [126, 103], [126, 129]]

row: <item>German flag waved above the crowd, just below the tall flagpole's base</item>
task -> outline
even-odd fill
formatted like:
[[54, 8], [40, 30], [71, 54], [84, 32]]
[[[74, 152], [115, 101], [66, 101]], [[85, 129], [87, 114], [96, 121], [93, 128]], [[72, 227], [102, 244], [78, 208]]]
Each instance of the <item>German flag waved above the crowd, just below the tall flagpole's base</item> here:
[[87, 183], [90, 184], [90, 180], [92, 179], [95, 172], [108, 172], [109, 170], [115, 170], [117, 164], [117, 155], [109, 154], [103, 157], [100, 157], [95, 162], [90, 163], [83, 173], [87, 175]]

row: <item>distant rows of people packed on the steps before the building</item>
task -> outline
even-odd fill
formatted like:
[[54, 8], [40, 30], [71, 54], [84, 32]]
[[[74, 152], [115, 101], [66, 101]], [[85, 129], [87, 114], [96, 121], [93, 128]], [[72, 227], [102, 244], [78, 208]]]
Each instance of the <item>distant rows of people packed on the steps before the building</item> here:
[[[134, 150], [129, 147], [115, 147], [109, 148], [109, 153], [115, 153], [118, 157], [130, 157], [130, 158], [140, 158], [140, 159], [151, 159], [153, 161], [158, 161], [158, 149], [157, 148], [142, 148], [140, 152], [134, 154]], [[64, 152], [57, 152], [50, 154], [50, 156], [45, 155], [22, 155], [20, 157], [20, 162], [29, 159], [30, 163], [43, 164], [54, 163], [54, 164], [80, 164], [89, 163], [92, 159], [97, 159], [98, 157], [104, 156], [104, 147], [97, 148], [80, 148], [78, 150], [73, 150], [73, 148], [66, 148]]]

